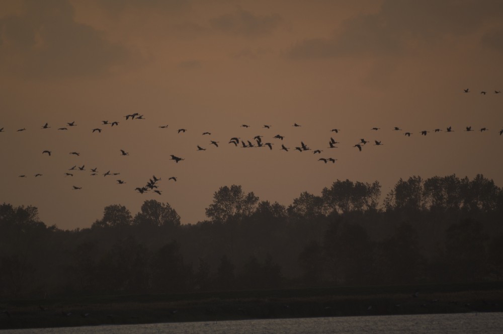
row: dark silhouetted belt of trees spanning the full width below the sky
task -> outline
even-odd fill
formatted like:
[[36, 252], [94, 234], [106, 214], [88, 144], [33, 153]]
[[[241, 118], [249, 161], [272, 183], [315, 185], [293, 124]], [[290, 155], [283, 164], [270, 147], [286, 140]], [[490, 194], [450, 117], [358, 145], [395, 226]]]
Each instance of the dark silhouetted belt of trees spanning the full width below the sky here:
[[105, 207], [90, 228], [0, 205], [0, 297], [177, 293], [503, 279], [503, 191], [455, 175], [337, 180], [288, 207], [221, 187], [207, 220], [168, 203]]

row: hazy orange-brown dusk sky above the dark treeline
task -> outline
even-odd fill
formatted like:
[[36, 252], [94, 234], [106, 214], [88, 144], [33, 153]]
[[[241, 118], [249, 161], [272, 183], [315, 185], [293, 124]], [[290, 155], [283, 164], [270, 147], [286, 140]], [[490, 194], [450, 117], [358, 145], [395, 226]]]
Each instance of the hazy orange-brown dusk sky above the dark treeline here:
[[[346, 179], [383, 198], [415, 175], [501, 187], [502, 17], [489, 0], [0, 0], [0, 203], [74, 229], [147, 199], [196, 223], [234, 184], [286, 206]], [[257, 135], [273, 149], [228, 143]], [[153, 175], [160, 195], [135, 191]]]

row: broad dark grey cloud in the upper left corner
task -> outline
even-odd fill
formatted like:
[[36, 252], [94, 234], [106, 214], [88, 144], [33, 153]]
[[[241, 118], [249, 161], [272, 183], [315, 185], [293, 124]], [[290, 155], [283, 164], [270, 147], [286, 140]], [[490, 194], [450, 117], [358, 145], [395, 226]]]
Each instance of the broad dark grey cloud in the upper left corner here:
[[128, 56], [90, 26], [74, 21], [65, 0], [27, 0], [24, 12], [0, 19], [0, 68], [24, 77], [106, 73]]

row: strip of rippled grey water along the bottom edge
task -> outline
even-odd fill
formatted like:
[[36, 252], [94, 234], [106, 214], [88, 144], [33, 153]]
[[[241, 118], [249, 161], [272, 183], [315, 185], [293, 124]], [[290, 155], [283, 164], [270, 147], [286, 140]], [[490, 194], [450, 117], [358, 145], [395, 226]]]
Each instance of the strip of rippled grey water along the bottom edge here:
[[[329, 318], [239, 320], [218, 322], [152, 323], [6, 330], [5, 333], [494, 333], [503, 332], [503, 313], [457, 313]], [[4, 333], [4, 331], [2, 332]]]

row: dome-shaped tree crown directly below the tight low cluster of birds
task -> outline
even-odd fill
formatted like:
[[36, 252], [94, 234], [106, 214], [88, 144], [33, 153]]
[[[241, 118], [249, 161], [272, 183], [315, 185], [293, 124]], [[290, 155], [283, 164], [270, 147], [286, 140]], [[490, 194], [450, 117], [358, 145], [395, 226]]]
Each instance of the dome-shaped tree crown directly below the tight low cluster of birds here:
[[168, 203], [146, 200], [133, 223], [142, 226], [180, 226], [180, 216]]

